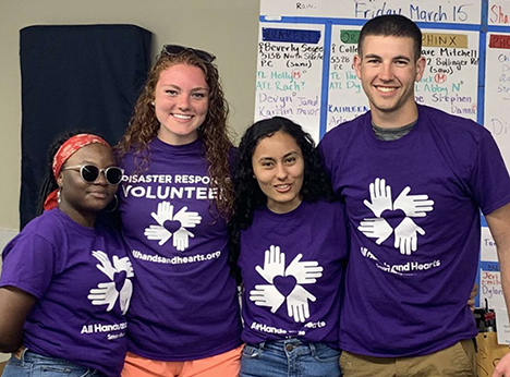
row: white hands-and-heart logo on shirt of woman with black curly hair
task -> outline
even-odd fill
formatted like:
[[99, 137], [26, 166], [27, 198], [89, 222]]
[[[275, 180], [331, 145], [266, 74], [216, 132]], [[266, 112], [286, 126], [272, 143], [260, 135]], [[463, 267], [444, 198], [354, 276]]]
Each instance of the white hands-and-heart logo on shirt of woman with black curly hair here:
[[257, 306], [270, 307], [271, 313], [287, 301], [287, 314], [296, 323], [309, 318], [308, 301], [317, 299], [305, 290], [303, 284], [313, 284], [323, 276], [324, 268], [317, 262], [301, 262], [303, 254], [298, 254], [286, 268], [286, 254], [280, 246], [271, 245], [264, 256], [264, 267], [256, 266], [256, 271], [268, 284], [255, 285], [250, 291], [250, 300]]

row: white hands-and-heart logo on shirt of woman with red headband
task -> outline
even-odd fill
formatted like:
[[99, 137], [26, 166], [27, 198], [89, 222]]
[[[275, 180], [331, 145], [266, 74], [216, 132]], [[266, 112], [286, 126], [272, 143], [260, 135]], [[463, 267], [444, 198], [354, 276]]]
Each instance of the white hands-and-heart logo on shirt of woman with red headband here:
[[102, 282], [93, 288], [87, 296], [93, 305], [108, 305], [107, 312], [110, 312], [119, 299], [119, 305], [124, 315], [130, 307], [131, 294], [133, 293], [133, 283], [129, 278], [134, 277], [133, 266], [129, 257], [119, 258], [113, 255], [113, 265], [105, 252], [93, 251], [93, 256], [100, 262], [96, 267], [105, 273], [110, 281]]

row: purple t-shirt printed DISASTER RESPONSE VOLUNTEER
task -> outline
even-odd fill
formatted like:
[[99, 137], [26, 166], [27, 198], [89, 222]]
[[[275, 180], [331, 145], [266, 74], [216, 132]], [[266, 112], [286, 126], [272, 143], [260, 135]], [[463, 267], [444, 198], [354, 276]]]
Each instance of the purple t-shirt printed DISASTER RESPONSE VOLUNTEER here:
[[209, 357], [241, 344], [226, 221], [217, 216], [201, 139], [182, 146], [157, 137], [150, 166], [124, 157], [120, 187], [123, 234], [137, 287], [127, 349], [159, 361]]

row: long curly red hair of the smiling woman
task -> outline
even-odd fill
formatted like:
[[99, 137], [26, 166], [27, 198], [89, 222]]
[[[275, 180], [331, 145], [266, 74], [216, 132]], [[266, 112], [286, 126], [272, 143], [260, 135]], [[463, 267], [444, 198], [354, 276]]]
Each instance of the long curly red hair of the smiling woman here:
[[192, 51], [185, 50], [177, 56], [163, 51], [157, 57], [156, 63], [148, 73], [142, 94], [136, 101], [134, 114], [122, 139], [116, 147], [118, 157], [134, 150], [137, 171], [146, 171], [150, 163], [147, 146], [157, 136], [160, 123], [151, 102], [155, 98], [156, 85], [161, 72], [175, 64], [189, 64], [199, 68], [209, 86], [209, 102], [204, 123], [198, 127], [198, 137], [206, 146], [206, 160], [211, 188], [218, 191], [216, 206], [222, 217], [230, 218], [233, 211], [234, 193], [230, 180], [229, 155], [232, 148], [231, 131], [227, 125], [229, 106], [224, 99], [218, 69], [215, 64], [205, 62]]

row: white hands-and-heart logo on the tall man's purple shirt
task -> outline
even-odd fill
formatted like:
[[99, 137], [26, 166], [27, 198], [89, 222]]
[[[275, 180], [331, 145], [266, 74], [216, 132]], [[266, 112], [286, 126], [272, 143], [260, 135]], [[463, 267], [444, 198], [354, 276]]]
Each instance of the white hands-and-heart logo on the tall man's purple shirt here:
[[[376, 239], [380, 245], [392, 233], [394, 235], [393, 247], [400, 250], [401, 254], [411, 255], [417, 250], [417, 238], [425, 234], [425, 230], [418, 227], [412, 218], [425, 217], [434, 210], [434, 200], [428, 195], [410, 195], [411, 187], [406, 186], [397, 199], [391, 199], [391, 186], [386, 184], [385, 179], [376, 178], [369, 185], [371, 200], [364, 200], [374, 218], [366, 218], [360, 222], [357, 230], [367, 238]], [[405, 217], [393, 229], [388, 220], [382, 217], [385, 210], [401, 210]]]

